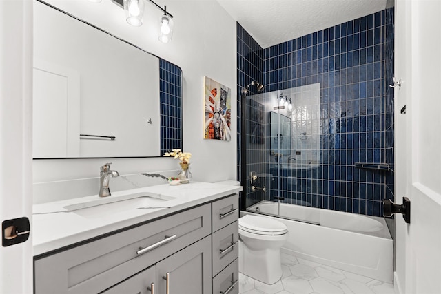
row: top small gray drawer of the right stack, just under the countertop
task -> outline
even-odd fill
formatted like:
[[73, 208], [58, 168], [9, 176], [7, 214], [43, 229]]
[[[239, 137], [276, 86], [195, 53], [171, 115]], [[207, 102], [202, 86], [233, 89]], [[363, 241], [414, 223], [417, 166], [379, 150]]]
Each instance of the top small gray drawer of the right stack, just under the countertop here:
[[231, 224], [239, 217], [239, 196], [223, 198], [212, 203], [212, 223], [213, 231]]

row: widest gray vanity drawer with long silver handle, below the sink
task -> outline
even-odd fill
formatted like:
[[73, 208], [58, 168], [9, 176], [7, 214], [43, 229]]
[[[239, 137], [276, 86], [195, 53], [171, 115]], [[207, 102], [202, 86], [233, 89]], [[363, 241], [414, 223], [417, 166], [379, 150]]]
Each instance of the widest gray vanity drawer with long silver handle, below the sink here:
[[37, 259], [35, 293], [99, 293], [210, 233], [205, 204]]

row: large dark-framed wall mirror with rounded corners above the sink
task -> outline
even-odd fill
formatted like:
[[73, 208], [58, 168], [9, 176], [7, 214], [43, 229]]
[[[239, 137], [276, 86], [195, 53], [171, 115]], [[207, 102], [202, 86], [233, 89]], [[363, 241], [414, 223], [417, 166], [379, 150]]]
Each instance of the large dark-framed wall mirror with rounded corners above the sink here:
[[43, 1], [34, 5], [34, 158], [182, 147], [181, 69]]

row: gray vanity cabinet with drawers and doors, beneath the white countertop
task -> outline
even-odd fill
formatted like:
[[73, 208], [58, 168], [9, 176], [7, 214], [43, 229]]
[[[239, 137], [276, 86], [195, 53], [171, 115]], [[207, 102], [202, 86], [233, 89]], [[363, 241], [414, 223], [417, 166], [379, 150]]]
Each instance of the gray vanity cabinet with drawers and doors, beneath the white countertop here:
[[237, 294], [237, 281], [238, 194], [34, 258], [34, 294]]

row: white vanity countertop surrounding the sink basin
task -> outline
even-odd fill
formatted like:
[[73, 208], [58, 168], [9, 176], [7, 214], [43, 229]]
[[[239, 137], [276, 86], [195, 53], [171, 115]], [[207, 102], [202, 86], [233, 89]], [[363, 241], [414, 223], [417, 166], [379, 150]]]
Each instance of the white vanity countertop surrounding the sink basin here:
[[[47, 253], [64, 246], [88, 240], [105, 233], [139, 224], [153, 218], [167, 216], [170, 213], [181, 211], [198, 204], [216, 200], [232, 193], [242, 191], [240, 186], [211, 184], [205, 182], [191, 182], [177, 186], [157, 185], [112, 193], [112, 196], [99, 198], [87, 196], [57, 202], [35, 204], [32, 216], [32, 242], [34, 256]], [[81, 213], [68, 211], [65, 207], [79, 202], [124, 200], [127, 194], [154, 193], [156, 199], [170, 199], [158, 201], [142, 209], [131, 209], [107, 213], [106, 216], [85, 218]]]

